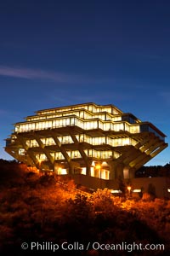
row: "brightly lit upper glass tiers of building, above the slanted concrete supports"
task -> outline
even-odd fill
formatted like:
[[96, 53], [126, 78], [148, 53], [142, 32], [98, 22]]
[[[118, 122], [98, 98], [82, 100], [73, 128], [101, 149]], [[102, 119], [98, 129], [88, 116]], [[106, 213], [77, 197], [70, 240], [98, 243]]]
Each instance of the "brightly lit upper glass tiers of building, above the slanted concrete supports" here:
[[113, 105], [100, 106], [94, 103], [78, 104], [62, 108], [39, 110], [26, 117], [25, 122], [14, 125], [15, 132], [39, 131], [65, 126], [78, 126], [82, 130], [152, 132], [164, 141], [165, 135], [149, 122], [142, 122], [132, 113], [122, 113]]

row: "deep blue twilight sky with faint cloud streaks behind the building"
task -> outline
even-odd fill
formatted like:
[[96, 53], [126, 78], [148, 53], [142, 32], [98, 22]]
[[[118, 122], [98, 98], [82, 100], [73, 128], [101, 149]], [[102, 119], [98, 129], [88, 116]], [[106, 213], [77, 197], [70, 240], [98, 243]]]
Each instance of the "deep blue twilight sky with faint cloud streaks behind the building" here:
[[[13, 124], [95, 102], [150, 121], [170, 143], [168, 0], [0, 2], [0, 158]], [[150, 165], [170, 162], [166, 148]]]

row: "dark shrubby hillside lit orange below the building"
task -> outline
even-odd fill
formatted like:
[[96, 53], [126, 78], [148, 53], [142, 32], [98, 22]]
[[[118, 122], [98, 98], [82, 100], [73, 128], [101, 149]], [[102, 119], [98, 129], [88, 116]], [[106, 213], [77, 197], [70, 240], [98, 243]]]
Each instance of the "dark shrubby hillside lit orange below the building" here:
[[[1, 255], [55, 255], [49, 250], [23, 250], [31, 241], [87, 245], [74, 255], [166, 255], [170, 236], [170, 201], [126, 200], [108, 189], [83, 194], [69, 177], [44, 175], [26, 166], [0, 160]], [[164, 244], [165, 250], [95, 250], [91, 245]], [[62, 250], [71, 254], [71, 250]]]

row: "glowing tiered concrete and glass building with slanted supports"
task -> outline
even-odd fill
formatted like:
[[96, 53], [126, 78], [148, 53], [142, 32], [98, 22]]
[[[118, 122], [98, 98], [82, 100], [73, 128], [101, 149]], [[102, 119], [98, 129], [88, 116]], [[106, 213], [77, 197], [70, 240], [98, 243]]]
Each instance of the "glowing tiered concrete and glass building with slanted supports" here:
[[84, 103], [39, 110], [14, 124], [5, 150], [28, 166], [110, 182], [134, 172], [167, 147], [150, 122], [113, 105]]

